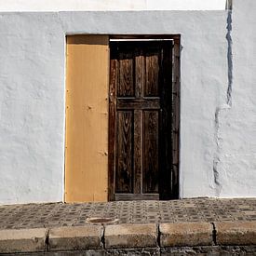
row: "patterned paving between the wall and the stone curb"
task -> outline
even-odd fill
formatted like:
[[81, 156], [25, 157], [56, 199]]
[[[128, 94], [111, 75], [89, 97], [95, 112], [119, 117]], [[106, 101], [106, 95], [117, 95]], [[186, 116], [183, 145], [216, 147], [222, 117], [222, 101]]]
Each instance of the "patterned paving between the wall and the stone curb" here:
[[118, 223], [256, 221], [256, 198], [0, 206], [0, 229], [79, 226], [88, 217]]

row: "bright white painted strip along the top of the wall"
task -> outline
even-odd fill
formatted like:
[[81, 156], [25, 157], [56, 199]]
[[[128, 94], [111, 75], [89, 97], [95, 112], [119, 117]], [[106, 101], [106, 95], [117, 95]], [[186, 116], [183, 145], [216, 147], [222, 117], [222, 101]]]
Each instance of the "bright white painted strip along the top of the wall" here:
[[0, 0], [0, 11], [223, 10], [226, 0]]

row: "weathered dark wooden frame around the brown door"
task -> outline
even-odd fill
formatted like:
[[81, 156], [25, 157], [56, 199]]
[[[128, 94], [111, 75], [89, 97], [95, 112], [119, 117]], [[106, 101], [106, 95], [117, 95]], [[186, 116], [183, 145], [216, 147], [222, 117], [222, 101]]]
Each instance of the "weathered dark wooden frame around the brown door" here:
[[[180, 162], [180, 94], [181, 94], [181, 35], [180, 34], [115, 34], [110, 35], [110, 40], [139, 40], [139, 41], [149, 41], [149, 40], [164, 40], [172, 39], [174, 41], [173, 54], [172, 54], [172, 173], [175, 173], [174, 177], [171, 177], [171, 197], [169, 199], [178, 199], [180, 195], [180, 182], [179, 182], [179, 162]], [[110, 66], [110, 65], [109, 65]], [[111, 75], [109, 75], [111, 80]], [[109, 95], [111, 92], [111, 81], [109, 80]], [[115, 190], [114, 190], [114, 171], [115, 169], [115, 128], [111, 128], [112, 124], [115, 123], [115, 116], [111, 115], [113, 111], [111, 108], [115, 107], [115, 103], [111, 103], [111, 97], [109, 96], [109, 125], [108, 125], [108, 200], [115, 200]], [[173, 111], [174, 110], [174, 111]]]

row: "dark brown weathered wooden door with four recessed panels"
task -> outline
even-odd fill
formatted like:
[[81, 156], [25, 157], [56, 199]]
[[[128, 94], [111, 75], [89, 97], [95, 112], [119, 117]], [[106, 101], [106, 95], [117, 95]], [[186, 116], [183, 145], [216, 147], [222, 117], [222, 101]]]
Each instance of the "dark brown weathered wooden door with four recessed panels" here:
[[110, 199], [177, 197], [171, 153], [173, 43], [118, 41], [110, 47]]

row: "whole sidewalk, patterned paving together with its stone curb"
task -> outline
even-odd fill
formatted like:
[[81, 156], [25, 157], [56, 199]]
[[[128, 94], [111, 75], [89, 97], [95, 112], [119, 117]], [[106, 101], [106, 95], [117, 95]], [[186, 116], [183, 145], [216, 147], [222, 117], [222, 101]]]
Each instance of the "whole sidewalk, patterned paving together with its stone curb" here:
[[254, 245], [256, 198], [0, 206], [0, 253]]

